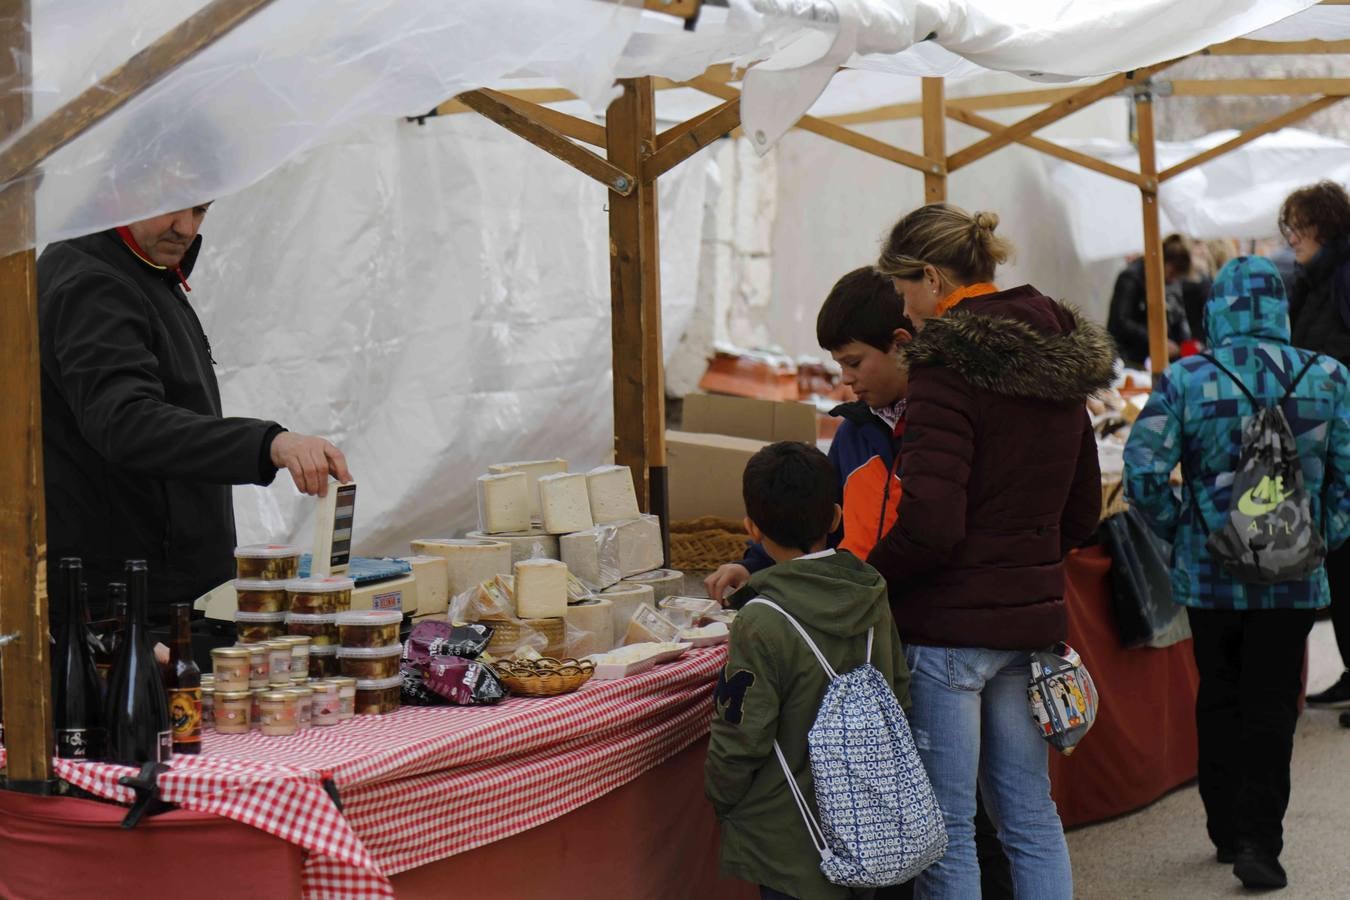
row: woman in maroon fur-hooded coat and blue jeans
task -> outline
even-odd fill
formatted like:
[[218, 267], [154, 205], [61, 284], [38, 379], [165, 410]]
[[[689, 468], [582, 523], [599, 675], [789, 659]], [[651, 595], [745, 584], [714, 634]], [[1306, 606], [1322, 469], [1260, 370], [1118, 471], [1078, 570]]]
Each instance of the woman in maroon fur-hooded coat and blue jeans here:
[[946, 204], [892, 229], [878, 270], [918, 337], [899, 518], [868, 556], [913, 672], [914, 739], [950, 839], [918, 897], [977, 897], [976, 784], [1017, 896], [1072, 897], [1027, 653], [1062, 641], [1064, 555], [1096, 528], [1102, 488], [1085, 401], [1110, 386], [1106, 331], [1029, 285], [999, 290], [998, 216]]

